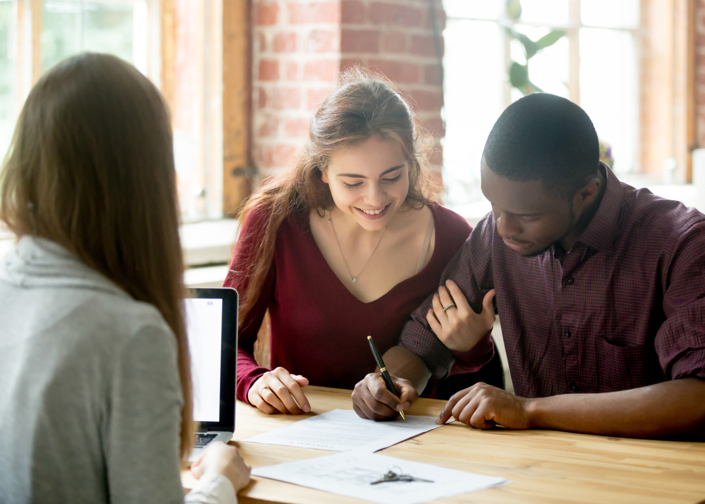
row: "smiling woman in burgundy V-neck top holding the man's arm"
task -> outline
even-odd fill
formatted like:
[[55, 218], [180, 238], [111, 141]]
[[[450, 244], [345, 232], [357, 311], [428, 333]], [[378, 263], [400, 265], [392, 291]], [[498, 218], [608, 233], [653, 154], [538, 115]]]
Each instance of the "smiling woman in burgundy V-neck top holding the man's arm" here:
[[[302, 386], [350, 389], [374, 371], [368, 335], [387, 352], [391, 371], [410, 363], [417, 370], [414, 383], [396, 380], [400, 400], [389, 394], [394, 410], [384, 413], [396, 414], [422, 392], [430, 373], [396, 340], [470, 234], [462, 217], [434, 202], [431, 146], [391, 83], [350, 71], [315, 112], [295, 165], [248, 200], [224, 283], [241, 299], [240, 400], [267, 413], [309, 411]], [[267, 310], [273, 371], [253, 356]], [[484, 364], [494, 349], [474, 353]], [[482, 378], [498, 384], [494, 359]], [[436, 384], [438, 395], [479, 378], [458, 371], [460, 380]], [[379, 417], [372, 401], [355, 408]]]

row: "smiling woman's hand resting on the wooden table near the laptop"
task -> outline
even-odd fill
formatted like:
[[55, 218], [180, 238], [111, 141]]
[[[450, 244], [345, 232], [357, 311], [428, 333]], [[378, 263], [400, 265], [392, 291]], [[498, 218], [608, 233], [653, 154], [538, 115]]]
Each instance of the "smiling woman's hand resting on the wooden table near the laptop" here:
[[311, 404], [301, 390], [306, 385], [308, 380], [303, 376], [290, 374], [284, 368], [276, 368], [267, 371], [250, 385], [247, 400], [269, 415], [277, 412], [298, 415], [301, 410], [308, 413]]

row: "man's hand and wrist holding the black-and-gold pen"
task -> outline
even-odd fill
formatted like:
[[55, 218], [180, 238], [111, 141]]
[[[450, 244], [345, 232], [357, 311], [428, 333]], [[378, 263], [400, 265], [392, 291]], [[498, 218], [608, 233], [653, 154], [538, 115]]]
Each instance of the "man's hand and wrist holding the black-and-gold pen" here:
[[369, 373], [353, 390], [353, 409], [362, 418], [395, 418], [401, 410], [407, 409], [419, 398], [419, 393], [426, 388], [431, 377], [431, 371], [421, 357], [405, 347], [391, 347], [382, 359], [399, 397], [387, 390], [380, 373]]

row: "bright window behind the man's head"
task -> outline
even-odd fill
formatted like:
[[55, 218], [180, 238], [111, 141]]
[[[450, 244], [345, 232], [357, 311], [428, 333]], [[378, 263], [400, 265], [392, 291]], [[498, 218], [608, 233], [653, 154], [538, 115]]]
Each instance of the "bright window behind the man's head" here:
[[638, 0], [522, 0], [516, 19], [505, 0], [443, 0], [443, 6], [448, 203], [484, 200], [479, 162], [485, 140], [503, 109], [522, 97], [510, 85], [508, 68], [513, 61], [527, 64], [525, 47], [508, 27], [534, 41], [565, 31], [531, 58], [529, 80], [580, 104], [600, 140], [611, 145], [615, 172], [639, 169]]

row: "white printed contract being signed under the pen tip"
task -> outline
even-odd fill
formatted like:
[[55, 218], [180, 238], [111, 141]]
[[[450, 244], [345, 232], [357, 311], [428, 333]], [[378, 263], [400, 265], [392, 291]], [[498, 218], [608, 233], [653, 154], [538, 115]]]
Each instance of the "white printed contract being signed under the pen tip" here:
[[435, 416], [407, 415], [406, 421], [378, 422], [362, 419], [352, 409], [333, 409], [245, 441], [334, 452], [376, 452], [438, 427]]

